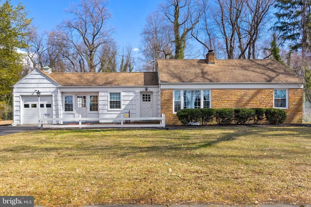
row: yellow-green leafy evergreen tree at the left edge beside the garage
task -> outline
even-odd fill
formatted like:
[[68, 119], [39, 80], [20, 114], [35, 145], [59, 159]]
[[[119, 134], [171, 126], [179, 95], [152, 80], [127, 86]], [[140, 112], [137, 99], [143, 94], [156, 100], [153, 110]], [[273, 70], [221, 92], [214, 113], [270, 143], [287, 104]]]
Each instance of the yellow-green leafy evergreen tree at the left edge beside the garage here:
[[10, 86], [21, 78], [23, 55], [17, 48], [26, 48], [24, 36], [30, 26], [24, 6], [11, 5], [10, 0], [0, 1], [0, 101], [7, 101]]

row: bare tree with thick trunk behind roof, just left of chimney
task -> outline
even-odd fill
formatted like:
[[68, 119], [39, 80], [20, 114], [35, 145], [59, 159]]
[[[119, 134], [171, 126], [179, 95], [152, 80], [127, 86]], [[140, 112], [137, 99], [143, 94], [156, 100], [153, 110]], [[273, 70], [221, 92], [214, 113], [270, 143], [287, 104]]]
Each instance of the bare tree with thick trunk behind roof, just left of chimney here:
[[195, 28], [203, 11], [205, 1], [200, 0], [167, 0], [161, 5], [163, 14], [173, 24], [174, 58], [183, 59], [189, 32]]

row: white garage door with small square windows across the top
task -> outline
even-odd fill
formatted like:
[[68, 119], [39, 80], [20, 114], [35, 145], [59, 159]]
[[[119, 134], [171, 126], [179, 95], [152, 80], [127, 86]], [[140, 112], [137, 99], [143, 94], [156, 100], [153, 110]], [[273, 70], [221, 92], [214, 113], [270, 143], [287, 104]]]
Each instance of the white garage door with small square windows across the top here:
[[[38, 103], [38, 96], [23, 96], [22, 101], [22, 124], [38, 124], [39, 107], [41, 121], [44, 121], [45, 118], [52, 118], [52, 96], [40, 96], [40, 106]], [[45, 121], [45, 123], [47, 123], [47, 121]]]

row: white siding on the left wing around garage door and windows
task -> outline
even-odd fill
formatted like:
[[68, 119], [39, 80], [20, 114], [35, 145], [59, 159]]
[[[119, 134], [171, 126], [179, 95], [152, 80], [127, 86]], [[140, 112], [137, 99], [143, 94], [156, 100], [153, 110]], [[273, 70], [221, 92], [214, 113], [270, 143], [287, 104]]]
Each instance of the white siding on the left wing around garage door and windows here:
[[[59, 86], [53, 80], [50, 80], [38, 70], [33, 70], [26, 77], [19, 80], [14, 85], [14, 123], [16, 125], [23, 124], [22, 119], [22, 97], [29, 96], [37, 99], [35, 90], [41, 92], [40, 97], [49, 96], [52, 97], [52, 114], [49, 118], [69, 118], [78, 117], [78, 113], [75, 111], [63, 111], [64, 110], [64, 96], [73, 96], [73, 103], [77, 95], [86, 95], [89, 99], [91, 95], [98, 95], [98, 111], [89, 111], [87, 107], [87, 117], [90, 118], [116, 118], [124, 117], [124, 113], [130, 111], [131, 117], [140, 116], [140, 93], [145, 92], [145, 86], [137, 87], [110, 87], [110, 86], [86, 86], [86, 87], [64, 87]], [[160, 117], [160, 96], [159, 87], [148, 87], [148, 92], [153, 93], [154, 99], [154, 114]], [[121, 109], [109, 109], [109, 93], [121, 93]], [[89, 102], [86, 101], [89, 105]], [[75, 105], [75, 103], [74, 103]], [[114, 121], [104, 121], [114, 122]], [[54, 121], [53, 124], [57, 124], [59, 121]]]

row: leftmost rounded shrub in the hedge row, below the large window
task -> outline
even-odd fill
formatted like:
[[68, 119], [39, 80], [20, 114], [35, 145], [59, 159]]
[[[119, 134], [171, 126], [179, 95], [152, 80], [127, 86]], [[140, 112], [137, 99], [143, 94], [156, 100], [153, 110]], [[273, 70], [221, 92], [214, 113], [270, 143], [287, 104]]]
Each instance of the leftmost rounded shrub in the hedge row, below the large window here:
[[201, 111], [198, 109], [182, 109], [176, 115], [183, 125], [192, 125], [201, 119]]

